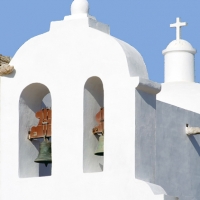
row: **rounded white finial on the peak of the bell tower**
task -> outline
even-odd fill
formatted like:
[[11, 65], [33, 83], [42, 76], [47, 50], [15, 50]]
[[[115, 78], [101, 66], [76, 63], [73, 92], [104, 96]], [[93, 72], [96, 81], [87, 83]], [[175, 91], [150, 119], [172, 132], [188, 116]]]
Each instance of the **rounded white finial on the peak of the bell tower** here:
[[74, 0], [71, 5], [71, 14], [88, 14], [89, 3], [87, 0]]

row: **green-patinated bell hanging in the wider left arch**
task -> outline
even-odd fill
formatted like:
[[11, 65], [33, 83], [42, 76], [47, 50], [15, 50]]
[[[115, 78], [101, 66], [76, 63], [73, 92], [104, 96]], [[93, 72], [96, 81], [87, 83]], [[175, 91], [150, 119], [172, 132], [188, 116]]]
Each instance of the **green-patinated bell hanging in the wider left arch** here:
[[42, 143], [40, 143], [40, 150], [39, 155], [35, 159], [36, 163], [44, 163], [46, 166], [49, 163], [52, 163], [51, 159], [51, 142], [48, 140], [44, 140]]

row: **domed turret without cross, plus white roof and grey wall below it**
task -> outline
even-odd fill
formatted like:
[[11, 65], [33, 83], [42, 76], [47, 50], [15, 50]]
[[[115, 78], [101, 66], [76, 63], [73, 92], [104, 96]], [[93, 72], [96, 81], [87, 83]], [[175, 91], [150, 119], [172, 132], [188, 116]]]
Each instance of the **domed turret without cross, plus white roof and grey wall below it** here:
[[185, 40], [178, 38], [168, 45], [163, 51], [165, 83], [157, 95], [155, 183], [161, 184], [168, 195], [184, 200], [198, 199], [200, 195], [196, 135], [200, 84], [194, 83], [195, 54], [196, 50]]

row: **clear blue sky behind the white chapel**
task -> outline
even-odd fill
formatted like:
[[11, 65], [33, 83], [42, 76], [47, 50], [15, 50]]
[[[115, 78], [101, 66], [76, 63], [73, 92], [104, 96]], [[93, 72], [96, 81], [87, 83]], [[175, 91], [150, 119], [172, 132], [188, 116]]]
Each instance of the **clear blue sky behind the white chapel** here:
[[[176, 17], [188, 26], [182, 39], [200, 50], [199, 0], [88, 0], [90, 14], [110, 25], [111, 35], [134, 46], [143, 56], [149, 77], [163, 82], [162, 50], [175, 39]], [[0, 0], [0, 54], [13, 57], [31, 37], [49, 30], [51, 21], [70, 15], [72, 0]], [[195, 56], [196, 82], [200, 82], [200, 55]]]

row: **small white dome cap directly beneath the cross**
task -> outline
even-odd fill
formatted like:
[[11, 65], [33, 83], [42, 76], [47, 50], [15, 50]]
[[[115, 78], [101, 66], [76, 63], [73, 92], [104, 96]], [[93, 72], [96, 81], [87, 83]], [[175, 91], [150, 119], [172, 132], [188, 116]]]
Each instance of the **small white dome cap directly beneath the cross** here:
[[172, 42], [170, 42], [167, 48], [163, 50], [162, 53], [166, 54], [173, 51], [186, 51], [192, 54], [196, 53], [196, 49], [194, 49], [188, 41], [182, 39], [173, 40]]

